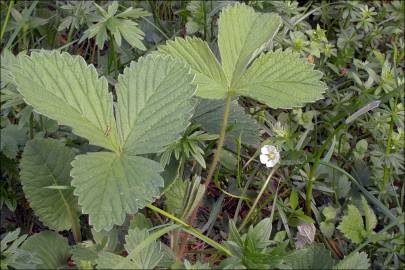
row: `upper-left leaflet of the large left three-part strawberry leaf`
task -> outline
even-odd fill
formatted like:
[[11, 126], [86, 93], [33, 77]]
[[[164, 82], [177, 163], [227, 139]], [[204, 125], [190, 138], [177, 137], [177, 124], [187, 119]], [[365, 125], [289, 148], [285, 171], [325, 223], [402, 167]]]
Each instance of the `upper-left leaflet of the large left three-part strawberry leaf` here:
[[110, 150], [116, 147], [112, 95], [107, 80], [81, 56], [33, 52], [12, 67], [18, 91], [34, 110], [72, 127], [73, 132]]

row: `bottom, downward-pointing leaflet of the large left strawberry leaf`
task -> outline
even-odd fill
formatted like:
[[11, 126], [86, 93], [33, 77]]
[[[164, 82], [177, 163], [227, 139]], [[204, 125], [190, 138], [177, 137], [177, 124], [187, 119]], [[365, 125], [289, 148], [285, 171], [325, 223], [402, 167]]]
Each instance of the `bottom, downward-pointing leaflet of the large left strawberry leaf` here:
[[137, 156], [108, 152], [76, 156], [72, 185], [82, 211], [96, 231], [110, 230], [151, 203], [163, 187], [160, 164]]

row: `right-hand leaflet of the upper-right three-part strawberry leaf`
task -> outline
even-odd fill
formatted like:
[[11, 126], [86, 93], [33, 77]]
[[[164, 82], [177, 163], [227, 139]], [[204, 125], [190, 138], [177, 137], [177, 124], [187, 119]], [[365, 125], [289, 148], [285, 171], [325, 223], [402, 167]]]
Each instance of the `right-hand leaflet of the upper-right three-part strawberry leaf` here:
[[235, 92], [277, 108], [301, 107], [322, 98], [322, 73], [298, 54], [277, 51], [262, 54], [235, 85]]

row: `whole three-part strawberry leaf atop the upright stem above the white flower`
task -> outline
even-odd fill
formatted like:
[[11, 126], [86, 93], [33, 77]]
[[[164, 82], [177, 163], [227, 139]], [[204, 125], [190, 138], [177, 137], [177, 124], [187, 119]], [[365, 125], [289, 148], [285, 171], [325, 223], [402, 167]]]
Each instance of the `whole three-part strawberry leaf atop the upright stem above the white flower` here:
[[200, 39], [176, 38], [159, 47], [160, 53], [190, 65], [196, 73], [198, 96], [220, 99], [228, 94], [243, 95], [272, 108], [302, 106], [322, 97], [326, 89], [319, 81], [322, 73], [297, 54], [279, 51], [253, 60], [277, 33], [278, 15], [256, 13], [237, 3], [224, 8], [218, 23], [221, 64]]

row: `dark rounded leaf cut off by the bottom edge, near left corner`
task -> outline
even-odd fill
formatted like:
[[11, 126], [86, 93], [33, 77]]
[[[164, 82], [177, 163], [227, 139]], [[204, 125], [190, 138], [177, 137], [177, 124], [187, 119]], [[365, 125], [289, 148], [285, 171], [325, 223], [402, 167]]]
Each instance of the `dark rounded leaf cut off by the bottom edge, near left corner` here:
[[63, 269], [67, 267], [70, 256], [67, 240], [52, 231], [43, 231], [29, 237], [22, 245], [22, 250], [26, 250], [42, 263], [31, 265], [37, 269]]

